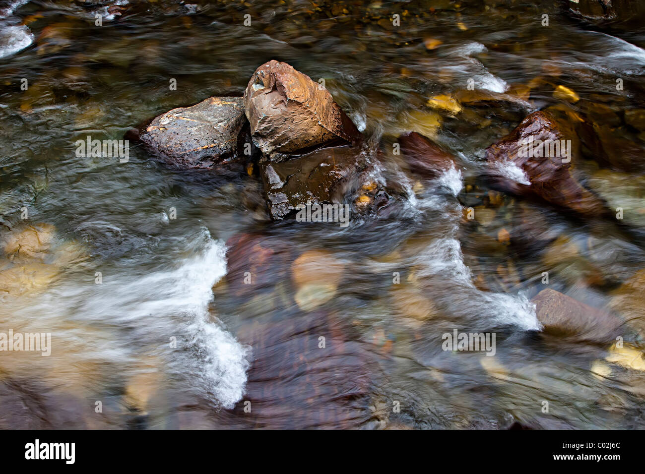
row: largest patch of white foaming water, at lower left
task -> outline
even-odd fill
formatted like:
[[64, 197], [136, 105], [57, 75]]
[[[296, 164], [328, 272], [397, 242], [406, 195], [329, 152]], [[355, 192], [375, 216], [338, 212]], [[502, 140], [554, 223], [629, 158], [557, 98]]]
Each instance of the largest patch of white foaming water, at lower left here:
[[[167, 360], [159, 370], [170, 379], [185, 377], [190, 388], [215, 406], [233, 408], [244, 395], [250, 349], [212, 321], [209, 312], [212, 286], [226, 273], [224, 243], [204, 228], [179, 249], [172, 251], [170, 261], [177, 262], [172, 266], [160, 264], [139, 275], [131, 266], [122, 273], [99, 268], [101, 284], [61, 282], [30, 301], [28, 311], [43, 327], [69, 321], [64, 327], [77, 322], [79, 328], [109, 328], [80, 339], [70, 330], [57, 331], [57, 344], [72, 339], [81, 345], [79, 357], [127, 367], [152, 351]], [[177, 338], [177, 348], [169, 348], [170, 337]]]

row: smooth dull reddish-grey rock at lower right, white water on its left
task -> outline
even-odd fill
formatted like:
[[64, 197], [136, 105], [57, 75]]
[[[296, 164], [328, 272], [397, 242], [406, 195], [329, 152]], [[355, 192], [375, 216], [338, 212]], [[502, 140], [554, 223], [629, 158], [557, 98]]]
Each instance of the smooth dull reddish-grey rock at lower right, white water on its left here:
[[611, 342], [620, 335], [622, 320], [606, 311], [592, 308], [559, 291], [540, 291], [531, 300], [537, 319], [547, 333], [573, 336], [584, 341]]

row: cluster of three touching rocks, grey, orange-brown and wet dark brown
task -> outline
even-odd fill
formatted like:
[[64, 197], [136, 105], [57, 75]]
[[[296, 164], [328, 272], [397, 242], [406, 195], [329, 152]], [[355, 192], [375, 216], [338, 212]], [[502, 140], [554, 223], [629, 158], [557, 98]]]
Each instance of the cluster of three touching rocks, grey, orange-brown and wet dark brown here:
[[259, 173], [275, 220], [308, 202], [341, 204], [352, 194], [361, 211], [389, 201], [368, 177], [361, 133], [330, 92], [279, 61], [257, 68], [244, 97], [170, 110], [139, 139], [175, 168]]

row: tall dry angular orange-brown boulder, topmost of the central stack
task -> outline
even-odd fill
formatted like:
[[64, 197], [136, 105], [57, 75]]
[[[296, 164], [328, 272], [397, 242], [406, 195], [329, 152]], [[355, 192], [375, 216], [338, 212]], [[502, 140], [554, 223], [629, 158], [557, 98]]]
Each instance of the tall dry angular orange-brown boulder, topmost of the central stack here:
[[328, 90], [287, 63], [269, 61], [255, 70], [244, 109], [253, 142], [266, 155], [361, 135]]

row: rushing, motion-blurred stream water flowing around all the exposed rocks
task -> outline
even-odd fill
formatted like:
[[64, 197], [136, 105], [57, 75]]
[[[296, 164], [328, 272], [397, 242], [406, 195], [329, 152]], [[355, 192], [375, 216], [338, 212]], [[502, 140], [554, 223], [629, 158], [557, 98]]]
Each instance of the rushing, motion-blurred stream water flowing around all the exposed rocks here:
[[[0, 351], [0, 427], [643, 426], [642, 25], [594, 30], [558, 1], [103, 3], [121, 6], [0, 5], [0, 232], [46, 241], [0, 257], [0, 332], [52, 335], [48, 357]], [[392, 212], [272, 222], [257, 177], [176, 172], [133, 142], [126, 163], [75, 153], [242, 95], [270, 59], [324, 79], [372, 179], [401, 190]], [[484, 149], [547, 108], [592, 124], [604, 153], [587, 143], [577, 168], [623, 219], [486, 187]], [[406, 172], [410, 130], [459, 169]], [[248, 288], [227, 275], [240, 234]], [[547, 287], [615, 312], [631, 349], [542, 333]], [[442, 350], [453, 330], [495, 333], [495, 355]]]

